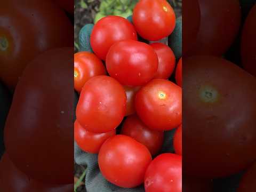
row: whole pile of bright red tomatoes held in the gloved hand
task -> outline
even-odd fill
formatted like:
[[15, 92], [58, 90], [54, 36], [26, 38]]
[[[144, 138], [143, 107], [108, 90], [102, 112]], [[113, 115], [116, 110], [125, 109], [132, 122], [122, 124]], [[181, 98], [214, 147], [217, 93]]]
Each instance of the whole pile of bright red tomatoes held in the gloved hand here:
[[[138, 41], [168, 37], [175, 20], [167, 1], [139, 1], [132, 22], [100, 19], [91, 34], [93, 53], [75, 54], [75, 141], [98, 154], [101, 173], [116, 186], [181, 191], [182, 60], [166, 44]], [[175, 154], [159, 154], [164, 132], [177, 127]]]

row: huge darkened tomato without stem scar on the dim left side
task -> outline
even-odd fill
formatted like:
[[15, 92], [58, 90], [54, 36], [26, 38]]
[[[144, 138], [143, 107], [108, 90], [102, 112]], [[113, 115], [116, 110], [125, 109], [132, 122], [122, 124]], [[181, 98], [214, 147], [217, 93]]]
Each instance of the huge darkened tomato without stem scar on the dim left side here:
[[73, 57], [74, 48], [67, 47], [29, 63], [5, 124], [5, 147], [14, 165], [47, 183], [74, 182]]

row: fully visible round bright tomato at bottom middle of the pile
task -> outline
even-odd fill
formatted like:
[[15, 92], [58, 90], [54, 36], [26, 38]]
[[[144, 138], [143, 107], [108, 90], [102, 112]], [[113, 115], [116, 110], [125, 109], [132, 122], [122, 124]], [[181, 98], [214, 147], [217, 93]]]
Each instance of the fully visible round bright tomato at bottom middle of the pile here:
[[103, 176], [109, 182], [124, 188], [143, 183], [151, 160], [149, 150], [126, 135], [109, 138], [99, 152], [99, 167]]

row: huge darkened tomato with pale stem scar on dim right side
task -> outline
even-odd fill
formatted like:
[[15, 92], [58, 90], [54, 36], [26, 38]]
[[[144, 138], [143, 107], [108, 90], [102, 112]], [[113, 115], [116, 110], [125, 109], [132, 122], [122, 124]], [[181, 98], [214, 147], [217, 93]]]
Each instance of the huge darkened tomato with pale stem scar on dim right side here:
[[183, 171], [215, 178], [245, 169], [256, 159], [255, 77], [221, 58], [183, 61]]

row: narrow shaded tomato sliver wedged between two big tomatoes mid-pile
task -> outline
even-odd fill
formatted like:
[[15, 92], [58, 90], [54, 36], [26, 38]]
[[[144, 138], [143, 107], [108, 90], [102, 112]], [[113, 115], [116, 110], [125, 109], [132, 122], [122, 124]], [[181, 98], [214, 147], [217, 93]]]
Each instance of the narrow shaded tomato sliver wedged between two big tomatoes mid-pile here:
[[129, 116], [136, 112], [134, 102], [135, 102], [136, 93], [140, 90], [140, 87], [124, 86], [124, 89], [127, 97], [125, 116]]

